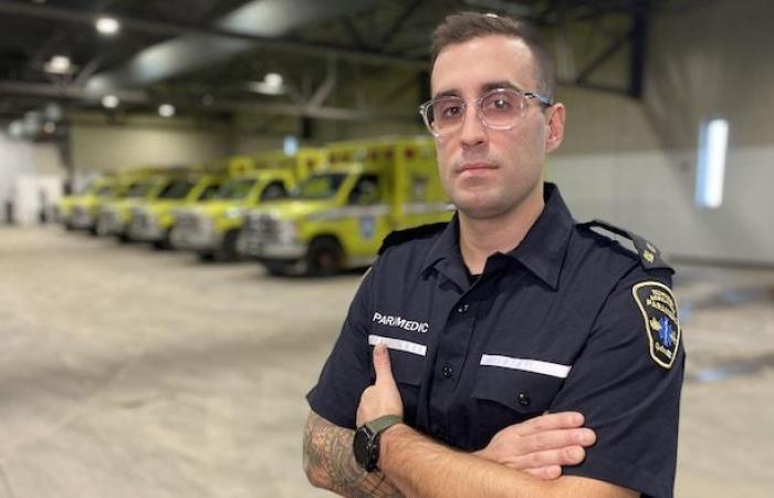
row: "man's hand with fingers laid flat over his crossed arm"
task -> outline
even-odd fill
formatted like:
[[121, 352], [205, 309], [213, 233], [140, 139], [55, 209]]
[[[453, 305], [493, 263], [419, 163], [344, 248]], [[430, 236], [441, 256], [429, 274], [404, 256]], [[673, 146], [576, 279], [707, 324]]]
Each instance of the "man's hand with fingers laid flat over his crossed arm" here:
[[500, 430], [475, 455], [542, 479], [555, 479], [563, 465], [583, 461], [584, 448], [596, 442], [596, 434], [582, 427], [583, 422], [577, 412], [541, 415]]

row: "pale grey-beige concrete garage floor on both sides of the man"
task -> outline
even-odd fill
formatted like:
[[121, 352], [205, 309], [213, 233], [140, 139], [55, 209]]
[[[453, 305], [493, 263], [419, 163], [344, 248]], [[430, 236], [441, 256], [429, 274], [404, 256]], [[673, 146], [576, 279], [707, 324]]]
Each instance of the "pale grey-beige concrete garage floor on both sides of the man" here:
[[[768, 497], [774, 271], [684, 267], [679, 497]], [[324, 497], [303, 395], [359, 276], [0, 228], [0, 498]]]

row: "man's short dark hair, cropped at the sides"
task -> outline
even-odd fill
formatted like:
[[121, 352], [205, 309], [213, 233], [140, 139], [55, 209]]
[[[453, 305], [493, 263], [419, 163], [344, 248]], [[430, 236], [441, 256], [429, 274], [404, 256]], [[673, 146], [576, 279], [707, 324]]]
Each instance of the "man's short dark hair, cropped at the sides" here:
[[432, 59], [436, 65], [438, 54], [448, 45], [463, 43], [475, 38], [502, 34], [524, 42], [532, 53], [537, 70], [537, 91], [553, 100], [556, 86], [554, 61], [543, 38], [529, 22], [481, 12], [460, 12], [447, 18], [432, 32]]

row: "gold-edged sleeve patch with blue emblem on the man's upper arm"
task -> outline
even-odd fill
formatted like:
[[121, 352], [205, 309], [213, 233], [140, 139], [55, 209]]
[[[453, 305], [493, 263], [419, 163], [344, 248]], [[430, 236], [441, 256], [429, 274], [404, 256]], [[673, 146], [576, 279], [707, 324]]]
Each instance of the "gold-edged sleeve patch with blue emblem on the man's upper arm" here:
[[648, 335], [650, 357], [669, 370], [680, 347], [680, 321], [672, 290], [661, 282], [647, 281], [631, 288]]

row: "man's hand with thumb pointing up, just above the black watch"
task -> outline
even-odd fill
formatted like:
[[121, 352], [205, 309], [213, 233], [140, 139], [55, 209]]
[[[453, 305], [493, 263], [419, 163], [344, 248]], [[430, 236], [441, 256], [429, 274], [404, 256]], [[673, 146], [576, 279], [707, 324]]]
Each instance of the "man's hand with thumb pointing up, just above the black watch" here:
[[377, 344], [374, 347], [374, 370], [376, 370], [376, 383], [366, 387], [360, 396], [360, 405], [357, 407], [358, 427], [384, 415], [404, 416], [404, 402], [393, 377], [389, 352], [384, 344]]

